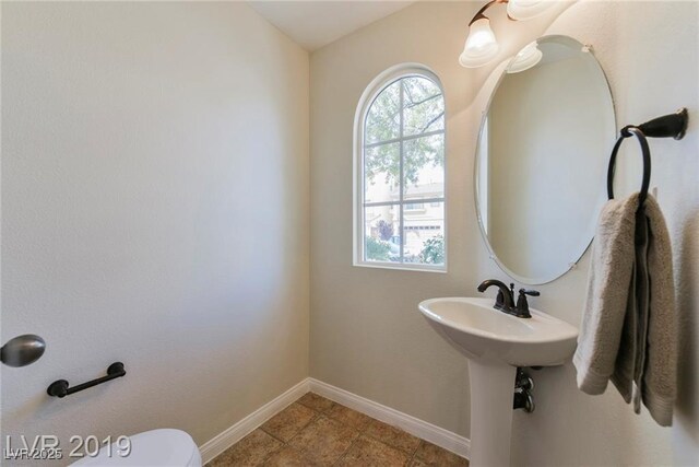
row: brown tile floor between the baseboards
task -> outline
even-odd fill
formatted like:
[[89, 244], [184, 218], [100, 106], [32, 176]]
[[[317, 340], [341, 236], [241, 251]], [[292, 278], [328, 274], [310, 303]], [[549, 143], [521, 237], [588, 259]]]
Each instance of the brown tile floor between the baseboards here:
[[467, 465], [449, 451], [308, 393], [206, 467]]

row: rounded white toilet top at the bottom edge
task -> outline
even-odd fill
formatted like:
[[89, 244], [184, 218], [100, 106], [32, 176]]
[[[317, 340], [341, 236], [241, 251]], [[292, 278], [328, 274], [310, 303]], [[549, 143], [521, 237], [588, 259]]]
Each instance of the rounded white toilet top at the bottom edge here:
[[121, 457], [116, 443], [104, 446], [96, 456], [85, 456], [73, 466], [201, 467], [194, 440], [181, 430], [159, 429], [129, 436], [131, 453]]

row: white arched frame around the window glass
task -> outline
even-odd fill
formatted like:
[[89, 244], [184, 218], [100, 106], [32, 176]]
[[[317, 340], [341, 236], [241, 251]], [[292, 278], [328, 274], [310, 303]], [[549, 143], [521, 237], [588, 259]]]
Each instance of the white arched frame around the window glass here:
[[[390, 262], [390, 261], [366, 261], [364, 259], [364, 235], [365, 235], [365, 225], [364, 225], [364, 126], [366, 122], [366, 117], [369, 112], [369, 107], [374, 103], [374, 100], [388, 86], [390, 83], [406, 77], [425, 77], [431, 80], [442, 94], [442, 100], [445, 101], [445, 192], [443, 205], [445, 205], [445, 264], [443, 265], [424, 265], [424, 264], [415, 264], [415, 262]], [[423, 272], [447, 272], [447, 264], [449, 257], [449, 248], [448, 248], [448, 214], [447, 214], [447, 180], [448, 172], [447, 172], [447, 100], [445, 98], [445, 90], [441, 85], [441, 80], [437, 74], [430, 70], [428, 67], [422, 63], [401, 63], [394, 67], [389, 68], [388, 70], [380, 73], [376, 77], [371, 83], [367, 86], [367, 89], [362, 94], [359, 98], [359, 103], [357, 104], [357, 110], [354, 118], [354, 148], [353, 148], [353, 230], [354, 230], [354, 240], [353, 240], [353, 265], [357, 267], [364, 268], [380, 268], [380, 269], [396, 269], [404, 271], [423, 271]], [[401, 164], [402, 164], [401, 157]], [[391, 205], [396, 205], [391, 202]], [[396, 205], [401, 207], [401, 205]], [[401, 215], [402, 219], [402, 215]], [[401, 222], [402, 225], [402, 222]], [[403, 242], [403, 235], [401, 229], [401, 243]]]

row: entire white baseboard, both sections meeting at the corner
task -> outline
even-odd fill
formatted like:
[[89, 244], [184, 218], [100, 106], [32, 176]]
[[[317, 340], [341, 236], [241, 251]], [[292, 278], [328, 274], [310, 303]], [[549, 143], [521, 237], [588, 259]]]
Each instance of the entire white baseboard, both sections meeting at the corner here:
[[249, 433], [254, 431], [254, 429], [284, 410], [309, 390], [371, 418], [398, 427], [414, 436], [429, 441], [430, 443], [451, 451], [462, 457], [469, 458], [469, 450], [471, 446], [471, 441], [469, 441], [469, 439], [415, 417], [399, 412], [390, 407], [382, 406], [374, 400], [366, 399], [357, 396], [356, 394], [348, 393], [344, 389], [340, 389], [339, 387], [308, 377], [286, 390], [281, 396], [266, 402], [264, 406], [225, 430], [223, 433], [217, 434], [212, 440], [202, 444], [199, 447], [202, 464], [209, 463], [218, 454], [242, 440]]

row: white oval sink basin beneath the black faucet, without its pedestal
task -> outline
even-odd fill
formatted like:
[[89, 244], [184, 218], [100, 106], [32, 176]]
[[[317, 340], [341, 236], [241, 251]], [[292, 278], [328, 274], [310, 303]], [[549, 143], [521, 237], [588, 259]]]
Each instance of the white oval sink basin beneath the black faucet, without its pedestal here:
[[431, 299], [418, 307], [469, 359], [512, 366], [560, 365], [576, 351], [578, 329], [530, 308], [531, 318], [495, 310], [493, 299]]

